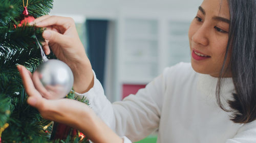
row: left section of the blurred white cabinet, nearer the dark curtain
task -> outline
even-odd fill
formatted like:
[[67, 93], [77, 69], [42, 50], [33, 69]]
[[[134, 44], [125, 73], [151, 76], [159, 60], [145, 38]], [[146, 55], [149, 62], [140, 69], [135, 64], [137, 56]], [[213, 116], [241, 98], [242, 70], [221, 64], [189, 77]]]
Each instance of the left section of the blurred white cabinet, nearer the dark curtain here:
[[120, 47], [120, 81], [146, 83], [157, 74], [158, 21], [124, 19], [123, 46]]

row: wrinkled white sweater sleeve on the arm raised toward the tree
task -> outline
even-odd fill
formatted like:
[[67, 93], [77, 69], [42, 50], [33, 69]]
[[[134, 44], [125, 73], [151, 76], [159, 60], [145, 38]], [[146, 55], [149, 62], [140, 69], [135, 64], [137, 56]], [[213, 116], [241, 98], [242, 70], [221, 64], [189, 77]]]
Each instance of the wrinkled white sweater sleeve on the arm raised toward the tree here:
[[[166, 71], [166, 70], [165, 70]], [[159, 126], [160, 108], [164, 88], [163, 74], [148, 83], [136, 95], [129, 95], [123, 101], [113, 104], [106, 98], [102, 85], [94, 73], [94, 86], [87, 93], [90, 107], [105, 124], [119, 136], [126, 136], [133, 142], [145, 138]]]

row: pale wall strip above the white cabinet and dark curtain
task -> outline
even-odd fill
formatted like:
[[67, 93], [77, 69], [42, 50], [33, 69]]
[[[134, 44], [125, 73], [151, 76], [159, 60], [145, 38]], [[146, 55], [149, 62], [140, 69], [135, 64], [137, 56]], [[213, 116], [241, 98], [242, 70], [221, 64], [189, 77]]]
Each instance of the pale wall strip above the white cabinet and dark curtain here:
[[[55, 0], [51, 14], [85, 15], [115, 19], [122, 10], [169, 11], [169, 14], [196, 12], [202, 0]], [[183, 15], [183, 14], [182, 14]]]

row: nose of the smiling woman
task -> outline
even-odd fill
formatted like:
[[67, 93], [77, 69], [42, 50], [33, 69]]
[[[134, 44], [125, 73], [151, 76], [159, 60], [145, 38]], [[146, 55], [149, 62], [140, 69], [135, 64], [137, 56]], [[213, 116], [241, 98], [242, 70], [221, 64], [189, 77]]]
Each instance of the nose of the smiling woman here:
[[192, 36], [192, 41], [197, 44], [207, 46], [209, 44], [208, 35], [209, 33], [207, 32], [207, 27], [203, 24], [198, 28], [196, 33], [194, 33], [194, 35]]

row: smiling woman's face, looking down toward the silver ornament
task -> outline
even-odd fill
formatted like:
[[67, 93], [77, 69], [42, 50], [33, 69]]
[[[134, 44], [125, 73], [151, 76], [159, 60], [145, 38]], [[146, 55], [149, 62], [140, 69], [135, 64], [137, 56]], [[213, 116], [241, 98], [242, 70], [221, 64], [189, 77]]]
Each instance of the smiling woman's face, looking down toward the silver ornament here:
[[[196, 72], [219, 77], [225, 57], [228, 33], [228, 2], [226, 0], [204, 0], [188, 32], [191, 65]], [[229, 54], [227, 61], [229, 61]]]

